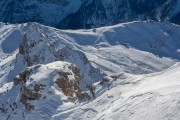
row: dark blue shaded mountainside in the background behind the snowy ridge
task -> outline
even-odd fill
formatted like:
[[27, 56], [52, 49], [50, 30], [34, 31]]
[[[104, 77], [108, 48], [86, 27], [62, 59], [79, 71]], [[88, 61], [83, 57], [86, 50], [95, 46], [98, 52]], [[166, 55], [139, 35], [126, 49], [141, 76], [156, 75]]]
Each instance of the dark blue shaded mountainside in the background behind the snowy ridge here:
[[1, 0], [0, 21], [79, 29], [153, 19], [180, 24], [179, 0]]

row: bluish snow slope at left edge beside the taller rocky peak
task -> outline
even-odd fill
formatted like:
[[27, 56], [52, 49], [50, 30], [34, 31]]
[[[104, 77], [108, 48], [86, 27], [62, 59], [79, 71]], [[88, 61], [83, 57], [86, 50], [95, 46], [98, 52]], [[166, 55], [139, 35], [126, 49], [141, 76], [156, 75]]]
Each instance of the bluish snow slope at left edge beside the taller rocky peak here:
[[[23, 57], [17, 55], [23, 36], [22, 26], [0, 23], [0, 86], [12, 81], [26, 67], [23, 63]], [[17, 56], [18, 59], [16, 59]]]

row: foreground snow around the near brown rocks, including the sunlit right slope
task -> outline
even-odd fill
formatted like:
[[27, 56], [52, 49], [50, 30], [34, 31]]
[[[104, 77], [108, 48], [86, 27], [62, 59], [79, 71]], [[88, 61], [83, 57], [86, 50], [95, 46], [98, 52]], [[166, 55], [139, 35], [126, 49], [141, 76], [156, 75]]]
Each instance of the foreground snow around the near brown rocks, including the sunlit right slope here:
[[[117, 80], [98, 82], [94, 84], [96, 99], [76, 104], [68, 102], [61, 89], [53, 85], [53, 81], [58, 78], [56, 72], [64, 71], [64, 65], [68, 63], [56, 62], [30, 68], [33, 73], [26, 85], [29, 88], [32, 88], [35, 83], [47, 86], [45, 90], [40, 91], [46, 98], [30, 100], [35, 108], [29, 112], [25, 111], [23, 105], [19, 103], [20, 86], [14, 86], [13, 83], [5, 84], [0, 89], [1, 98], [3, 98], [1, 108], [7, 109], [7, 112], [0, 113], [2, 119], [179, 120], [180, 118], [180, 63], [154, 74], [124, 73]], [[71, 76], [70, 78], [73, 79]], [[2, 102], [6, 100], [6, 103]]]

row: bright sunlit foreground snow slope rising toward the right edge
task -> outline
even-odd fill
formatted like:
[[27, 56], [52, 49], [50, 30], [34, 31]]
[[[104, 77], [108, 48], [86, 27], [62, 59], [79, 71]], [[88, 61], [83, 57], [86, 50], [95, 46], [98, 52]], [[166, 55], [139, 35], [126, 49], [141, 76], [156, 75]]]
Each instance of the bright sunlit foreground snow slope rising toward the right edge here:
[[179, 71], [177, 63], [156, 74], [124, 74], [116, 81], [97, 85], [99, 96], [92, 102], [76, 105], [54, 115], [53, 119], [179, 120]]

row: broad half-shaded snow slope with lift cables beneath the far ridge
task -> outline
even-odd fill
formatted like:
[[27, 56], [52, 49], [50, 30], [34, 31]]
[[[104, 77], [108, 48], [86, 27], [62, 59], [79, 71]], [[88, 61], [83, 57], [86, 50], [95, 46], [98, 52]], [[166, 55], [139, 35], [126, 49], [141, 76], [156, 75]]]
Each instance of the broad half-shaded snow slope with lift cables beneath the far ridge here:
[[143, 65], [143, 70], [138, 71], [144, 73], [163, 70], [167, 65], [172, 65], [172, 59], [168, 58], [179, 59], [179, 26], [175, 26], [165, 23], [130, 22], [76, 31], [59, 31], [46, 27], [45, 34], [51, 33], [48, 37], [55, 43], [63, 41], [63, 44], [56, 45], [57, 48], [66, 43], [80, 49], [95, 66], [111, 73], [122, 71], [122, 68], [123, 71], [132, 72], [140, 61], [152, 53], [154, 55]]

